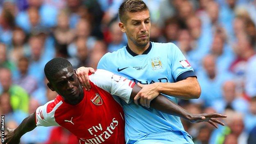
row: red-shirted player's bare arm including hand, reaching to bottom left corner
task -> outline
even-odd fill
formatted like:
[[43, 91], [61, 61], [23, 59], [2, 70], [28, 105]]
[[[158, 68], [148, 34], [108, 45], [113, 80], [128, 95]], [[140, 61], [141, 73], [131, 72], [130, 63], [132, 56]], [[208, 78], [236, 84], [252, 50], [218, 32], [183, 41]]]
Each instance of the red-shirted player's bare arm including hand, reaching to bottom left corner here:
[[7, 128], [7, 134], [5, 135], [5, 142], [3, 144], [19, 144], [21, 137], [36, 128], [36, 114], [30, 114], [26, 117], [16, 129], [10, 130]]

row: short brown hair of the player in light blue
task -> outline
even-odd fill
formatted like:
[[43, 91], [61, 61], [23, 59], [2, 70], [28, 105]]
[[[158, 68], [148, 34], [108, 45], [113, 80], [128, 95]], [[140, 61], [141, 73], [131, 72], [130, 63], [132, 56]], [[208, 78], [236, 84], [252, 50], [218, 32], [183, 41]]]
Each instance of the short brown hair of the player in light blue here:
[[119, 19], [122, 23], [126, 22], [127, 12], [137, 12], [148, 10], [149, 8], [146, 6], [145, 2], [142, 0], [125, 0], [119, 7], [118, 15]]

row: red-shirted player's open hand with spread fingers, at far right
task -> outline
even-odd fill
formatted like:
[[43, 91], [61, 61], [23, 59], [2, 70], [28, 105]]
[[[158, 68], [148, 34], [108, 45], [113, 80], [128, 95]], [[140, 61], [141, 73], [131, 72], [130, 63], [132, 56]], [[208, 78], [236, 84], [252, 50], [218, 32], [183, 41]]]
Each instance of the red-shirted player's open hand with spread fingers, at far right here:
[[227, 116], [222, 115], [222, 114], [217, 114], [217, 113], [212, 113], [212, 114], [194, 114], [189, 118], [189, 121], [191, 123], [200, 123], [203, 121], [206, 121], [213, 125], [215, 128], [218, 128], [218, 126], [215, 123], [219, 123], [220, 125], [224, 126], [225, 124], [222, 123], [221, 121], [218, 121], [215, 118], [225, 118]]

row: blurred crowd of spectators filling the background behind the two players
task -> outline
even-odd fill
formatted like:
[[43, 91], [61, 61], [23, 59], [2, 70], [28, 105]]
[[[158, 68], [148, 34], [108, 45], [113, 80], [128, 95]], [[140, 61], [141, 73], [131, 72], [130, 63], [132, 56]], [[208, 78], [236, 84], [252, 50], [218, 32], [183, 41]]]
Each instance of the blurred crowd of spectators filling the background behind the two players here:
[[[123, 0], [0, 0], [0, 114], [16, 128], [57, 95], [43, 73], [53, 57], [96, 69], [126, 46], [119, 29]], [[226, 114], [226, 126], [183, 121], [195, 144], [256, 144], [256, 0], [144, 0], [151, 41], [175, 43], [201, 85], [179, 104], [193, 114]], [[37, 127], [23, 144], [76, 144], [60, 127]]]

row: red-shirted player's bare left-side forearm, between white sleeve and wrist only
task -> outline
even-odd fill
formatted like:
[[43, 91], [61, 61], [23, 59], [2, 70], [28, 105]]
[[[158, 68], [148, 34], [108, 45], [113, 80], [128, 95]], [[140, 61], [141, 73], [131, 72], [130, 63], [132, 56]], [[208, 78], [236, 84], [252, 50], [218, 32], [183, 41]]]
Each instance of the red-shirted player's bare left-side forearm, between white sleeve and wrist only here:
[[33, 130], [36, 128], [36, 120], [35, 120], [35, 112], [33, 114], [30, 114], [28, 117], [26, 117], [21, 124], [14, 130], [15, 137], [21, 137], [25, 133]]

